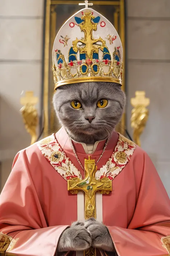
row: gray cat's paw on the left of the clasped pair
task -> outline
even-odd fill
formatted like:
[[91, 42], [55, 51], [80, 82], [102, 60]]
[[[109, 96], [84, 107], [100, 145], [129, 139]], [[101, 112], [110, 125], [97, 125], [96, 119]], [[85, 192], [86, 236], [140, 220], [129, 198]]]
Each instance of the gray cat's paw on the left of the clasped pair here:
[[91, 242], [91, 234], [84, 227], [84, 222], [76, 221], [62, 233], [57, 251], [83, 251], [90, 248]]

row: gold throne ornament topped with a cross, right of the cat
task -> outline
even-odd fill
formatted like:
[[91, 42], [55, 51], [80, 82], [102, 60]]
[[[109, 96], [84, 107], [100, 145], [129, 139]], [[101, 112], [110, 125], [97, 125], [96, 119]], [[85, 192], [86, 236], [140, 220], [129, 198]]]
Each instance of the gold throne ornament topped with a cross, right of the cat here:
[[141, 146], [140, 136], [146, 126], [149, 111], [146, 108], [150, 104], [150, 99], [145, 98], [145, 91], [136, 91], [135, 98], [131, 99], [132, 109], [131, 127], [133, 128], [134, 142]]

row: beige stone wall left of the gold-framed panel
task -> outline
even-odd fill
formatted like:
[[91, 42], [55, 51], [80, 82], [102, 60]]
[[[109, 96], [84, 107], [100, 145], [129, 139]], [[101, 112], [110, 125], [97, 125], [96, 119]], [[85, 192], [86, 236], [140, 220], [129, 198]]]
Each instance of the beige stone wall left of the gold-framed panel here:
[[0, 191], [15, 154], [30, 144], [19, 112], [21, 94], [33, 90], [41, 96], [43, 3], [0, 0]]

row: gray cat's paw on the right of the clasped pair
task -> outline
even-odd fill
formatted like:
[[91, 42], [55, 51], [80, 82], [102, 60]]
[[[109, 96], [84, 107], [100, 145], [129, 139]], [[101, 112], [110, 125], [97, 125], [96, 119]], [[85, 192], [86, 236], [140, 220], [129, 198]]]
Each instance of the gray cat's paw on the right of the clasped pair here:
[[94, 218], [90, 218], [85, 221], [84, 226], [91, 234], [91, 245], [94, 248], [99, 248], [104, 251], [115, 251], [112, 238], [109, 234], [109, 230], [104, 224], [100, 223]]

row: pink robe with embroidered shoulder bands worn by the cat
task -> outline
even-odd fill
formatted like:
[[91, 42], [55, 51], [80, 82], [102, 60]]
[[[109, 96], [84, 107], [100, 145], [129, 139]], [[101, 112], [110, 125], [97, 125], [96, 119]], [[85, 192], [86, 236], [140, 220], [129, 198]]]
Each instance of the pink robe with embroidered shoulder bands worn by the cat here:
[[[92, 159], [98, 160], [104, 145], [98, 143]], [[84, 165], [82, 144], [74, 147]], [[169, 255], [170, 199], [148, 155], [114, 132], [97, 166], [96, 179], [112, 180], [102, 214], [117, 254]], [[1, 252], [10, 241], [10, 253], [55, 255], [63, 230], [77, 220], [77, 194], [67, 191], [73, 176], [84, 179], [84, 171], [63, 128], [16, 155], [0, 195]]]

